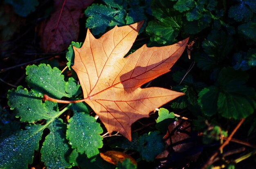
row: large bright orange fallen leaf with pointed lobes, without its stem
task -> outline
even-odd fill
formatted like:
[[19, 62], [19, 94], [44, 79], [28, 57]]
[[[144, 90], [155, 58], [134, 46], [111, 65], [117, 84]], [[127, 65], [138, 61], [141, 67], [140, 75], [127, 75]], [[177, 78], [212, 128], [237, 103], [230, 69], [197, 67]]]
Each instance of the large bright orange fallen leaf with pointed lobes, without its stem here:
[[134, 43], [143, 21], [117, 27], [95, 39], [90, 30], [81, 48], [74, 47], [74, 66], [84, 100], [111, 134], [131, 140], [131, 125], [149, 117], [149, 112], [184, 93], [165, 88], [140, 88], [170, 71], [188, 38], [163, 47], [141, 48], [124, 58]]

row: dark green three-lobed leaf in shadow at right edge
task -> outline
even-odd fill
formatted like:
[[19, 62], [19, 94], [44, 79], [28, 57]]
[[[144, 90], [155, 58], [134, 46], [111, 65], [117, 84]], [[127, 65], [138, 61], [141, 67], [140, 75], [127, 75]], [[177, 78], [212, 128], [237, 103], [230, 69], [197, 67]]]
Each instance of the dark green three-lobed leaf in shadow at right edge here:
[[213, 115], [217, 112], [226, 118], [240, 119], [252, 114], [255, 109], [255, 91], [244, 84], [246, 72], [223, 68], [215, 86], [204, 88], [199, 94], [198, 104], [202, 112]]

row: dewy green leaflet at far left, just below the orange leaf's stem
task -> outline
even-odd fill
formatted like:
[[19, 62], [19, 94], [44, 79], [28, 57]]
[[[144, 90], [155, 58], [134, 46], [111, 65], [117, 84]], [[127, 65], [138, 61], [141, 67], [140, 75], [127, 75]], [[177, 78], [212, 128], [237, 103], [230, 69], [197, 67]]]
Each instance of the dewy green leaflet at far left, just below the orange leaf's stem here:
[[28, 91], [22, 86], [8, 91], [8, 104], [20, 121], [32, 123], [41, 119], [51, 119], [58, 114], [57, 103], [45, 101], [34, 90]]

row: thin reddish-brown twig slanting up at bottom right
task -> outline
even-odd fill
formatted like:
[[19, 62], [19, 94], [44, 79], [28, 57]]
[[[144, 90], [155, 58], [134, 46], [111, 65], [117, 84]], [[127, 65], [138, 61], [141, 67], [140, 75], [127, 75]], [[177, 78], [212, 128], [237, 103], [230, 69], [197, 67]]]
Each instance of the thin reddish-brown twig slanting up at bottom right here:
[[209, 160], [204, 164], [204, 166], [201, 169], [206, 169], [209, 165], [211, 165], [213, 163], [214, 158], [218, 155], [218, 152], [220, 150], [222, 150], [226, 145], [229, 144], [229, 141], [231, 140], [231, 138], [234, 136], [234, 134], [236, 133], [236, 131], [238, 130], [238, 128], [242, 125], [242, 123], [245, 121], [245, 119], [241, 119], [240, 122], [238, 123], [238, 125], [236, 126], [236, 128], [231, 132], [231, 134], [229, 135], [229, 137], [227, 138], [227, 140], [219, 147], [218, 151], [216, 151], [211, 158], [209, 158]]

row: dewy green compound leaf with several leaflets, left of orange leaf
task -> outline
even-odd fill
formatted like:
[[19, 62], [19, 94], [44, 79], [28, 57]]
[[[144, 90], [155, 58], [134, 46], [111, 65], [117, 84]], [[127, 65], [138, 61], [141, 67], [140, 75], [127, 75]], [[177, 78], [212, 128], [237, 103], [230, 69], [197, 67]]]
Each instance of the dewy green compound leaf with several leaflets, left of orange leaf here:
[[[93, 117], [88, 115], [87, 105], [69, 104], [59, 111], [57, 103], [42, 102], [43, 93], [56, 98], [76, 97], [81, 92], [76, 81], [69, 78], [65, 82], [58, 68], [52, 69], [45, 64], [28, 66], [26, 70], [27, 82], [33, 89], [29, 91], [18, 86], [17, 90], [9, 90], [9, 106], [22, 122], [45, 121], [45, 124], [27, 125], [25, 130], [17, 131], [16, 134], [1, 140], [0, 148], [4, 149], [0, 153], [1, 168], [17, 166], [27, 168], [27, 165], [32, 162], [34, 150], [38, 150], [39, 140], [46, 128], [49, 129], [49, 134], [45, 137], [40, 153], [41, 160], [48, 168], [71, 168], [79, 157], [78, 152], [85, 153], [88, 157], [99, 154], [98, 148], [103, 145], [103, 138], [99, 135], [102, 133], [102, 128]], [[67, 109], [74, 113], [68, 121], [70, 123], [68, 127], [62, 119], [58, 118]], [[70, 154], [72, 154], [71, 159], [68, 159], [67, 156]]]

